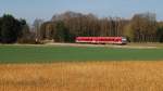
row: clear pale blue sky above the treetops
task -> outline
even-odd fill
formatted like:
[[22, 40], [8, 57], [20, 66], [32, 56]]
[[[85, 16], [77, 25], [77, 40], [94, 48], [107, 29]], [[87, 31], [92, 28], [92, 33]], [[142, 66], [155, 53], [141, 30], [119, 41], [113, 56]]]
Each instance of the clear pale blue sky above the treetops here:
[[32, 24], [36, 18], [49, 21], [54, 14], [74, 11], [99, 17], [130, 18], [136, 13], [152, 12], [163, 21], [163, 0], [0, 0], [0, 16], [12, 14]]

